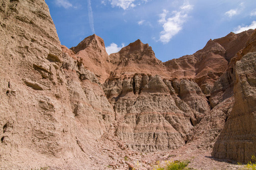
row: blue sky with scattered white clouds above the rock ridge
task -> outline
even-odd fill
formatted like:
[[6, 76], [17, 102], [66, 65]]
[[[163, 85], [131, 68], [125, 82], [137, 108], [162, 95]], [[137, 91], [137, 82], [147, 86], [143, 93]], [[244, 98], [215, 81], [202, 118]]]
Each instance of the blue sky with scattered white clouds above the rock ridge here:
[[165, 62], [193, 54], [209, 39], [256, 28], [255, 0], [46, 0], [61, 44], [94, 33], [108, 53], [140, 39]]

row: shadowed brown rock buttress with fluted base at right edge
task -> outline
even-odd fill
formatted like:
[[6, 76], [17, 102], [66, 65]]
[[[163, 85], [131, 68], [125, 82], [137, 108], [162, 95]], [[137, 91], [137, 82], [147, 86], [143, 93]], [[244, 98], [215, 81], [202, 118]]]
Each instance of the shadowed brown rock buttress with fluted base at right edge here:
[[236, 63], [234, 107], [213, 148], [213, 156], [250, 161], [256, 151], [256, 53]]

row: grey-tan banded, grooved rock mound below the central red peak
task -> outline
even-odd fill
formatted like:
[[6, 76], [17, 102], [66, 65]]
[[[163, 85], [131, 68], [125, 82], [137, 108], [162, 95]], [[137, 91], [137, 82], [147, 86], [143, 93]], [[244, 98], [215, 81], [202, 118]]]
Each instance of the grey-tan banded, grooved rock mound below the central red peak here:
[[[119, 82], [122, 84], [119, 94], [108, 94], [112, 92], [109, 90], [112, 89], [112, 84], [116, 84], [111, 79], [105, 82], [104, 90], [107, 96], [112, 96], [110, 101], [117, 115], [118, 126], [115, 133], [133, 149], [155, 151], [184, 145], [188, 141], [192, 123], [197, 122], [195, 114], [209, 109], [206, 98], [199, 102], [201, 104], [205, 101], [203, 105], [206, 108], [199, 104], [196, 111], [188, 107], [190, 103], [187, 104], [178, 97], [183, 92], [199, 97], [195, 89], [187, 87], [191, 83], [189, 80], [176, 82], [176, 86], [181, 86], [179, 94], [176, 94], [170, 80], [158, 75], [136, 74]], [[198, 86], [197, 90], [200, 94]]]

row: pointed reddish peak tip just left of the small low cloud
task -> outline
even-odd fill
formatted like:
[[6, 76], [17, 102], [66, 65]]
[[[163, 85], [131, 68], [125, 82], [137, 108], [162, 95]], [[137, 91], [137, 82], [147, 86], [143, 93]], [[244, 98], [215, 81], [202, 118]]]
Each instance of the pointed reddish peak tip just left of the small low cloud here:
[[96, 34], [86, 37], [77, 46], [72, 47], [71, 50], [78, 53], [80, 50], [84, 50], [88, 46], [98, 46], [100, 49], [106, 50], [104, 40]]

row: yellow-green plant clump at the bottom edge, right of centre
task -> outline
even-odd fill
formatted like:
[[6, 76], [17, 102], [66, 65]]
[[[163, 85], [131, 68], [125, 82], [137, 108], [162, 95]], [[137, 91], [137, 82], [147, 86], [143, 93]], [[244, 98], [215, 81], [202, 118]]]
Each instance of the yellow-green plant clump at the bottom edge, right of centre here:
[[154, 170], [182, 170], [185, 169], [188, 164], [189, 161], [181, 162], [179, 160], [176, 160], [174, 162], [167, 162], [167, 164], [164, 167], [160, 167], [158, 165]]

